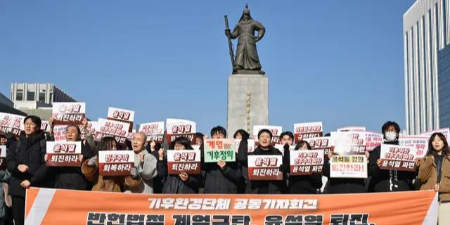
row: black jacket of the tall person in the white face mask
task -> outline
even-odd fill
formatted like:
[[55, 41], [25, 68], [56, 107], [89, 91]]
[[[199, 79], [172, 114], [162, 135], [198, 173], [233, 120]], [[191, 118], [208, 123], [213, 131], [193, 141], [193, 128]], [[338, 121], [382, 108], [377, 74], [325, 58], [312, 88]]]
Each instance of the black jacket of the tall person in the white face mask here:
[[[386, 144], [398, 145], [398, 141], [385, 142]], [[368, 158], [368, 173], [372, 177], [369, 184], [369, 192], [388, 191], [411, 191], [416, 172], [405, 172], [394, 169], [380, 169], [377, 160], [380, 159], [381, 146], [373, 149], [371, 157]]]

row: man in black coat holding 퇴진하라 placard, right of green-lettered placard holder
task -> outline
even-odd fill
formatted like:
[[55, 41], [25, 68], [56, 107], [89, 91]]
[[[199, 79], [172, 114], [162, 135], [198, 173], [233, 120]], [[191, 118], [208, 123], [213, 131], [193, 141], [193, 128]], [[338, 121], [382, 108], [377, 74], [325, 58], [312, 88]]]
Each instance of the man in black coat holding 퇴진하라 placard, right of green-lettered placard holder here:
[[[248, 155], [282, 155], [281, 151], [270, 145], [272, 140], [272, 133], [269, 129], [262, 129], [258, 132], [259, 146], [254, 152], [248, 153]], [[248, 160], [247, 160], [248, 162]], [[248, 163], [246, 164], [248, 165]], [[243, 174], [247, 180], [247, 188], [245, 193], [248, 194], [281, 194], [288, 193], [288, 187], [286, 185], [286, 173], [283, 165], [280, 167], [280, 172], [283, 173], [282, 180], [262, 180], [254, 181], [248, 179], [248, 174]]]

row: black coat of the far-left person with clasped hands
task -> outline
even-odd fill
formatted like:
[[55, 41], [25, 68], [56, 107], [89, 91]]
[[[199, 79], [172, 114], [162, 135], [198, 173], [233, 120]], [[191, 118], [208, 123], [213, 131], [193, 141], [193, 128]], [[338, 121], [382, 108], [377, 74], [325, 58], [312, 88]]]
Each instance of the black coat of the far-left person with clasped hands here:
[[[18, 146], [20, 143], [20, 146]], [[17, 152], [17, 154], [16, 154]], [[30, 181], [31, 186], [45, 186], [47, 167], [44, 156], [46, 154], [46, 141], [44, 132], [38, 130], [32, 136], [20, 134], [19, 141], [11, 145], [6, 155], [6, 167], [11, 172], [9, 181], [9, 194], [15, 197], [25, 197], [25, 188], [20, 186], [24, 180]], [[18, 165], [27, 165], [28, 171], [23, 173]]]

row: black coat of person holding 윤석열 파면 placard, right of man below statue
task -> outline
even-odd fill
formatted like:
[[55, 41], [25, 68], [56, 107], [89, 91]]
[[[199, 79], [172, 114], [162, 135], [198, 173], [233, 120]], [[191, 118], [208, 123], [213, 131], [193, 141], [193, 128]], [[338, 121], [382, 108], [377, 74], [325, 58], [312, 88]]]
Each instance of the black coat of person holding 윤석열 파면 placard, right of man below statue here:
[[[290, 150], [289, 146], [284, 149], [283, 167], [285, 171], [290, 171]], [[292, 176], [288, 178], [288, 193], [290, 194], [316, 194], [317, 189], [322, 187], [322, 175], [311, 174], [302, 176]]]

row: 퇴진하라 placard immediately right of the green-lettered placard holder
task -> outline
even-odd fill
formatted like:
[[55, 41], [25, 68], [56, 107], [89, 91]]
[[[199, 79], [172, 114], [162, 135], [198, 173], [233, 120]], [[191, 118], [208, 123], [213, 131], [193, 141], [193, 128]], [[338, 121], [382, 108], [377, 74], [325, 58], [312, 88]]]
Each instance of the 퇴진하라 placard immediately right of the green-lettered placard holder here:
[[281, 155], [248, 155], [248, 178], [250, 180], [282, 180]]

